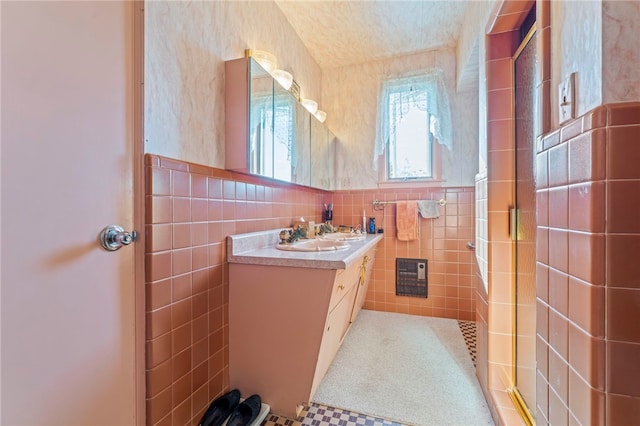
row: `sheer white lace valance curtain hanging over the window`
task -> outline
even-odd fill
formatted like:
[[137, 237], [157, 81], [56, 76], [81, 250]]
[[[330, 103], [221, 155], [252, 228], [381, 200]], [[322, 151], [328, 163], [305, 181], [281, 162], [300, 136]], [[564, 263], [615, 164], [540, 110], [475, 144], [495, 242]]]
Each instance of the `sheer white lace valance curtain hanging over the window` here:
[[435, 140], [451, 151], [452, 129], [449, 95], [444, 83], [444, 71], [432, 69], [418, 75], [403, 76], [385, 81], [378, 96], [378, 119], [373, 164], [384, 153], [396, 126], [411, 106], [428, 111], [430, 132]]

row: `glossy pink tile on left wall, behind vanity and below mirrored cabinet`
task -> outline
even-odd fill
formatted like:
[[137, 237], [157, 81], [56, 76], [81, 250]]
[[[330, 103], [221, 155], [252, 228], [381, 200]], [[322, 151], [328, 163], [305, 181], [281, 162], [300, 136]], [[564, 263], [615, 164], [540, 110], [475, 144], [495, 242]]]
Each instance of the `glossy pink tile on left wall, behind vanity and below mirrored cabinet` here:
[[196, 425], [228, 390], [227, 235], [320, 219], [323, 192], [146, 163], [147, 424]]

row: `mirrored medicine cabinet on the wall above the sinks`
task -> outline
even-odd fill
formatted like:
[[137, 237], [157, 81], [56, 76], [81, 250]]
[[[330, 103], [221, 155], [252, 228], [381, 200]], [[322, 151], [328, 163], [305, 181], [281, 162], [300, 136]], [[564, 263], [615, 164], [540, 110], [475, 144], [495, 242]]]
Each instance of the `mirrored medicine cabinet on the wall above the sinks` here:
[[225, 64], [225, 167], [333, 190], [335, 136], [251, 57]]

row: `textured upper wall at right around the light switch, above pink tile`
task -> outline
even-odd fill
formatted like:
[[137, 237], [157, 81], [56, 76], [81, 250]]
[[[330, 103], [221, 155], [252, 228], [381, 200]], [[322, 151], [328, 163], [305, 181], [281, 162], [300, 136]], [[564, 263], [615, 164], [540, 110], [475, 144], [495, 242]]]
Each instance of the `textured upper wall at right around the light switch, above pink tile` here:
[[640, 100], [640, 2], [551, 2], [552, 128], [558, 127], [558, 84], [576, 79], [576, 116], [612, 102]]

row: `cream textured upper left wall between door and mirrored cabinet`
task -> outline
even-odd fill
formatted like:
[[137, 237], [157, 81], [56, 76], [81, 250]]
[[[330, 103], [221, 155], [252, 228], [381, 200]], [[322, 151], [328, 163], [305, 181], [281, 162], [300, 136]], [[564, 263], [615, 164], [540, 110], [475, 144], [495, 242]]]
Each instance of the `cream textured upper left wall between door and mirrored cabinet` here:
[[224, 168], [224, 62], [267, 50], [321, 101], [316, 62], [272, 1], [145, 3], [145, 152]]

